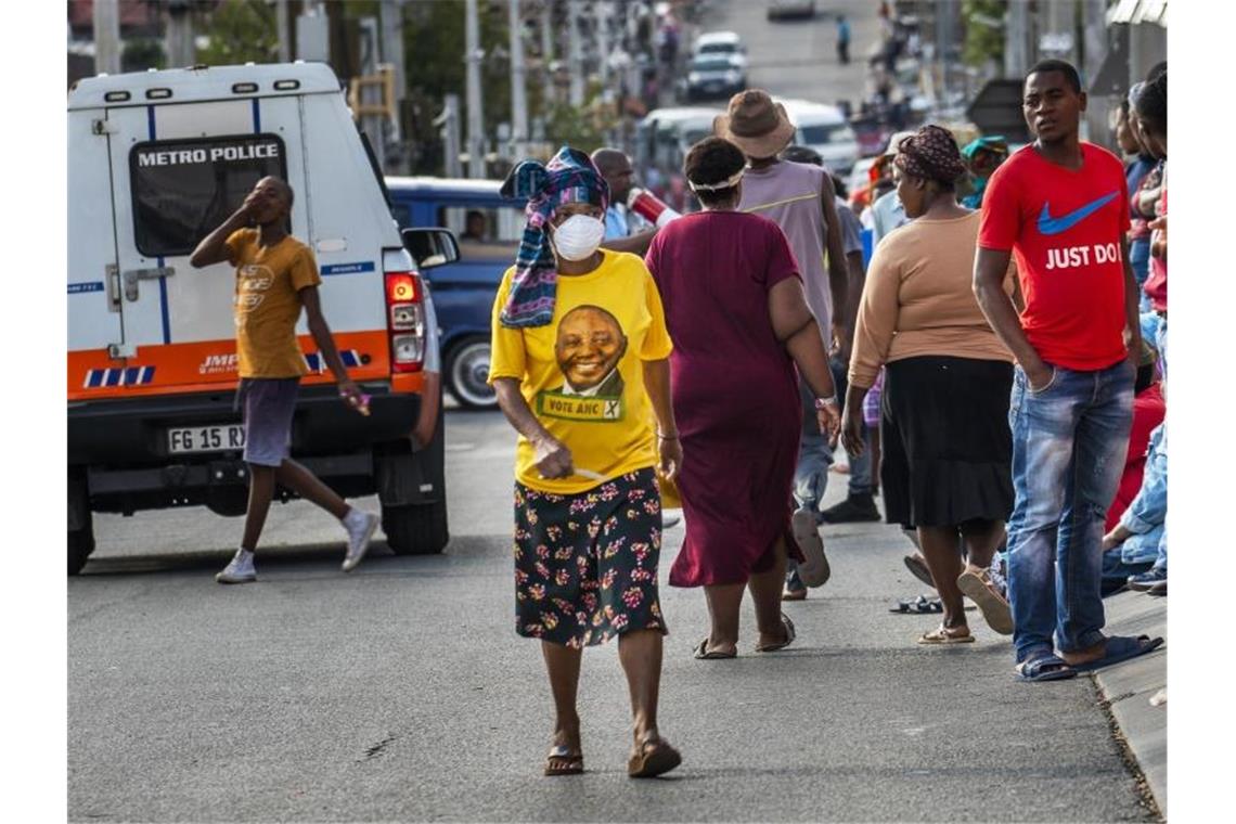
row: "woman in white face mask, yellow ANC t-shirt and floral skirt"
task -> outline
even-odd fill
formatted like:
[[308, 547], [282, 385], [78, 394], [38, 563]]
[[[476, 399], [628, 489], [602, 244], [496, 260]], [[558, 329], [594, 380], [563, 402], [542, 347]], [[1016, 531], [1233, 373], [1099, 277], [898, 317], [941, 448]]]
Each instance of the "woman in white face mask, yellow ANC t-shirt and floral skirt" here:
[[528, 222], [493, 303], [489, 383], [519, 432], [515, 631], [540, 640], [554, 696], [545, 775], [583, 771], [582, 651], [617, 636], [634, 719], [627, 773], [656, 776], [682, 760], [656, 718], [654, 468], [674, 478], [682, 463], [660, 296], [640, 258], [599, 248], [609, 189], [583, 152], [519, 163], [502, 194], [528, 200]]

